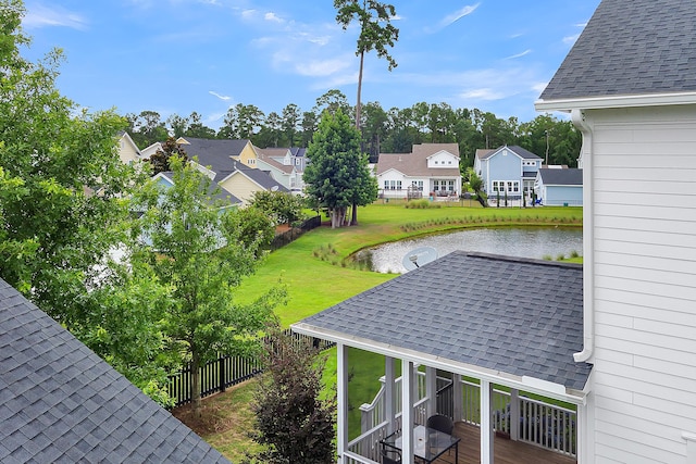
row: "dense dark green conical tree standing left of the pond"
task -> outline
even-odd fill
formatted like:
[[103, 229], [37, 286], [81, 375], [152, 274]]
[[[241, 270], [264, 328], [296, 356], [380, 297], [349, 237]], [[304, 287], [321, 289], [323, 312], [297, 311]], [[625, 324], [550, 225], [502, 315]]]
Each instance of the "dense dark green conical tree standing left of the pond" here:
[[360, 133], [343, 111], [324, 112], [307, 158], [307, 195], [327, 209], [333, 228], [344, 225], [353, 201], [368, 204], [376, 198], [376, 180], [370, 175], [368, 156], [360, 152]]

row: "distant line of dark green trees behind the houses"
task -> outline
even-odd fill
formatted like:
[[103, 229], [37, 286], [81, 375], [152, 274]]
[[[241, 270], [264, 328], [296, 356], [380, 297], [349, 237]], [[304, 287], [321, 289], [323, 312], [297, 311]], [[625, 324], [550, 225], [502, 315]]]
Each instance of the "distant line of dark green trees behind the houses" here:
[[[169, 136], [207, 139], [249, 139], [260, 148], [308, 147], [319, 128], [322, 113], [338, 109], [355, 117], [356, 108], [346, 96], [332, 89], [320, 96], [312, 109], [302, 111], [295, 103], [279, 113], [264, 114], [253, 104], [237, 103], [227, 110], [223, 124], [213, 129], [192, 112], [189, 116], [173, 114], [166, 120], [156, 111], [129, 113], [128, 131], [139, 148]], [[477, 149], [520, 146], [548, 164], [577, 166], [582, 137], [570, 121], [540, 114], [530, 122], [507, 120], [478, 109], [452, 108], [450, 104], [419, 102], [409, 108], [385, 110], [380, 102], [361, 105], [361, 149], [377, 161], [380, 153], [410, 153], [414, 143], [459, 143], [461, 167], [473, 166]], [[548, 155], [548, 156], [547, 156]]]

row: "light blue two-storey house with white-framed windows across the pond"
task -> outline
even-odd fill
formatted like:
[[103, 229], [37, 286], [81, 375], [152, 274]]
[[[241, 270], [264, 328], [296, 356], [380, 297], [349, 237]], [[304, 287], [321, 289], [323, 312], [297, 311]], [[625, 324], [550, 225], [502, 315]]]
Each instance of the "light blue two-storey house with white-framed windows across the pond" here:
[[524, 192], [532, 198], [534, 179], [542, 167], [542, 159], [522, 147], [504, 146], [495, 150], [476, 150], [474, 172], [483, 180], [483, 190], [493, 199], [506, 193], [519, 200]]

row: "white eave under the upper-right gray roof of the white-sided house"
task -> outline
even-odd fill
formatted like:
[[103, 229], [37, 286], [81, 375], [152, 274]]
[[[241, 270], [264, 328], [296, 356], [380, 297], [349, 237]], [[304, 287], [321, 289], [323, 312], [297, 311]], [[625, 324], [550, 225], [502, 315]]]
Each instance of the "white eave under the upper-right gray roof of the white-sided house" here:
[[606, 97], [582, 97], [568, 99], [537, 100], [536, 111], [606, 110], [610, 108], [667, 106], [674, 104], [696, 104], [696, 91], [622, 95]]

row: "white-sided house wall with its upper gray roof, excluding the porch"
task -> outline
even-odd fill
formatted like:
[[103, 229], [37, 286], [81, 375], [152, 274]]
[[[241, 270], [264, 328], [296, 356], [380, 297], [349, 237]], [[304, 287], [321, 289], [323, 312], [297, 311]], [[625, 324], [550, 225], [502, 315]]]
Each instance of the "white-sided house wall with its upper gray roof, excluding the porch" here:
[[535, 103], [583, 135], [581, 463], [696, 463], [695, 24], [604, 0]]

